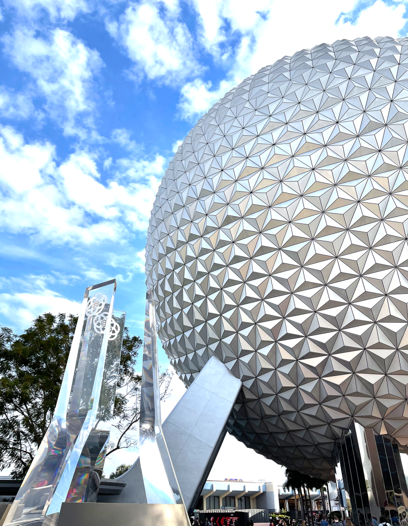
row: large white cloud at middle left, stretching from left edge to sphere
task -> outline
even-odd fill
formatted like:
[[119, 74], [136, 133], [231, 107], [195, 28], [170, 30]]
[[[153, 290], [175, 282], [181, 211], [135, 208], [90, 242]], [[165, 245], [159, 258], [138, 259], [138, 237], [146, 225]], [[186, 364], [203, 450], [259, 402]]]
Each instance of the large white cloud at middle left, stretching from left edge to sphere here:
[[0, 127], [0, 228], [52, 244], [126, 242], [147, 229], [164, 164], [161, 156], [119, 159], [104, 183], [86, 151], [57, 166], [52, 144], [26, 144]]

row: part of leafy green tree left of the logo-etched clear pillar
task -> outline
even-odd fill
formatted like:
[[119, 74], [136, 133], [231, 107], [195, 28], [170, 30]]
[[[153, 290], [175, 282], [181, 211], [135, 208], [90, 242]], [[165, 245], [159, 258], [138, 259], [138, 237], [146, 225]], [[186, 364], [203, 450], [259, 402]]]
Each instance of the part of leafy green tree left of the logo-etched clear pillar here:
[[21, 336], [0, 332], [0, 469], [26, 473], [52, 419], [76, 319], [38, 316]]

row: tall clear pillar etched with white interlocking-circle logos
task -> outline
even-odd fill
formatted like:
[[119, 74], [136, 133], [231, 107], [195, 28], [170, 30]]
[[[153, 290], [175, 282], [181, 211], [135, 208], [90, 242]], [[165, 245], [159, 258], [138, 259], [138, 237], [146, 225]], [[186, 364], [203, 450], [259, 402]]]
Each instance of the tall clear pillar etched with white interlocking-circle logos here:
[[126, 316], [115, 290], [111, 280], [85, 291], [53, 420], [4, 525], [55, 526], [63, 502], [96, 500]]

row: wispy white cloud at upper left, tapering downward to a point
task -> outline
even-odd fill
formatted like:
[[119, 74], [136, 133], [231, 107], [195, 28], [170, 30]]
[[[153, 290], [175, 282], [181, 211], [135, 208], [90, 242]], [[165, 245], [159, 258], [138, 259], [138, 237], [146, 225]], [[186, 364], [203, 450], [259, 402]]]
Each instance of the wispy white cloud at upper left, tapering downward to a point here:
[[3, 37], [3, 43], [15, 66], [35, 80], [38, 95], [46, 98], [48, 114], [62, 124], [67, 135], [84, 135], [82, 126], [93, 124], [93, 78], [103, 66], [99, 53], [58, 28], [46, 40], [19, 26]]

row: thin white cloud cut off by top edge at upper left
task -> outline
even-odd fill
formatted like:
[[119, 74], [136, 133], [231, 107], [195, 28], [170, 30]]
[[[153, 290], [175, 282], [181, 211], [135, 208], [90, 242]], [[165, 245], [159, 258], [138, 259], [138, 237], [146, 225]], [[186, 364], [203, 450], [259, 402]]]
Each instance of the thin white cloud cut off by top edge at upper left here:
[[38, 17], [46, 11], [52, 21], [58, 18], [73, 20], [78, 13], [89, 10], [86, 0], [5, 0], [4, 4], [27, 18]]

